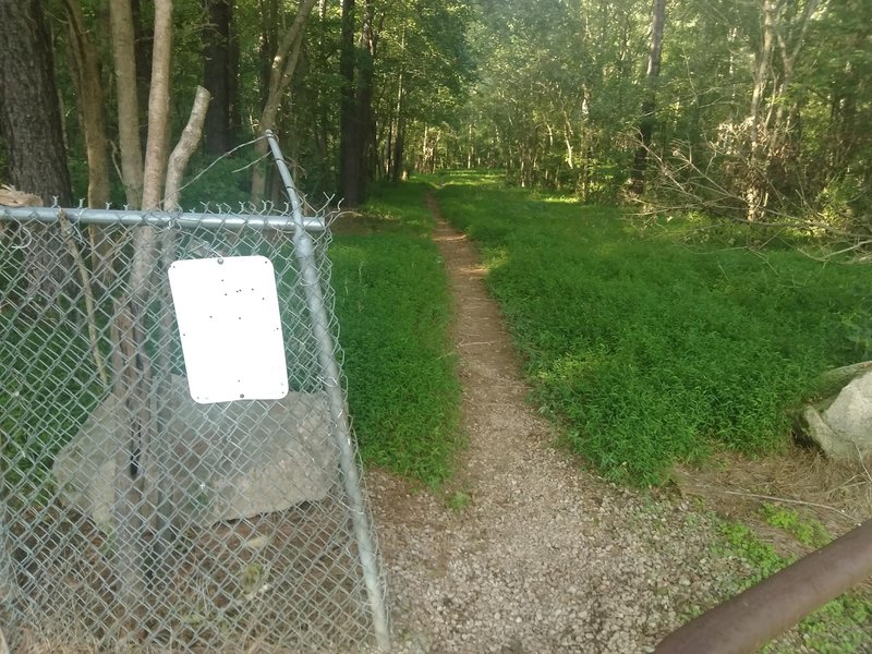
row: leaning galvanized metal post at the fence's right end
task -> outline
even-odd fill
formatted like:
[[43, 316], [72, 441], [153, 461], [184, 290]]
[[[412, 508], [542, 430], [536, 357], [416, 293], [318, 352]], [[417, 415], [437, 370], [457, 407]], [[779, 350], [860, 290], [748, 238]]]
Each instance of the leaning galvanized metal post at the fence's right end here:
[[334, 339], [330, 334], [327, 312], [324, 306], [324, 296], [320, 288], [315, 252], [308, 232], [303, 227], [303, 210], [296, 187], [293, 183], [284, 157], [279, 148], [278, 141], [272, 132], [267, 131], [267, 140], [276, 165], [281, 175], [284, 189], [291, 201], [294, 218], [294, 253], [300, 262], [303, 284], [305, 288], [306, 303], [311, 314], [315, 339], [318, 343], [318, 361], [323, 368], [324, 385], [330, 405], [330, 417], [334, 422], [334, 438], [339, 448], [339, 462], [342, 468], [346, 493], [350, 500], [351, 519], [354, 525], [354, 535], [363, 568], [366, 592], [370, 600], [370, 609], [376, 640], [380, 650], [390, 650], [390, 628], [386, 605], [385, 592], [379, 573], [378, 555], [373, 540], [368, 517], [364, 508], [361, 493], [360, 473], [358, 461], [351, 446], [351, 429], [349, 426], [346, 402], [339, 378], [339, 366], [336, 362]]

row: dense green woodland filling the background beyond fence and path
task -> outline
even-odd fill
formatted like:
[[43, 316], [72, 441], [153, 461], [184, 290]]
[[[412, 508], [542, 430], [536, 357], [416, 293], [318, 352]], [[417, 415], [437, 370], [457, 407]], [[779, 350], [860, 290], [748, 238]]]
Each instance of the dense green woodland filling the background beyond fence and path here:
[[[301, 184], [346, 206], [373, 181], [496, 168], [585, 202], [872, 240], [865, 0], [0, 0], [0, 180], [61, 203], [142, 199], [164, 48], [153, 143], [211, 94], [193, 170], [272, 129]], [[265, 149], [183, 202], [277, 196], [243, 168]]]

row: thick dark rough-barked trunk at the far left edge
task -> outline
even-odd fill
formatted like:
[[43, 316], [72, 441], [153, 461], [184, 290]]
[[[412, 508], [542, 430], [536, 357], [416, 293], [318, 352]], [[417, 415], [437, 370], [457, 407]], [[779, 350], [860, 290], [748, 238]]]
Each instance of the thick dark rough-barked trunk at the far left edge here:
[[51, 39], [38, 0], [0, 0], [0, 130], [20, 191], [72, 204]]

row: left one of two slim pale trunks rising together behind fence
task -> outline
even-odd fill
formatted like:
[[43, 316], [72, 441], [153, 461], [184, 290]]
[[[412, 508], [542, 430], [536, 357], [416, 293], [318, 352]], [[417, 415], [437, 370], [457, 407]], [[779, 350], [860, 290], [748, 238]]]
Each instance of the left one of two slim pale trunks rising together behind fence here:
[[130, 0], [112, 0], [109, 3], [109, 20], [118, 96], [121, 179], [128, 206], [138, 208], [143, 198], [143, 150], [140, 141], [140, 99], [136, 90], [135, 37]]

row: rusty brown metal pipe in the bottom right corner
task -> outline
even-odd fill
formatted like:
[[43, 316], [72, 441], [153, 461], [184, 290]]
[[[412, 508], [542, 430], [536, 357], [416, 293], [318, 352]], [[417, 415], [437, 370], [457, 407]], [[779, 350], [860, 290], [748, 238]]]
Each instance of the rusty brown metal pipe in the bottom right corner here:
[[755, 652], [872, 574], [872, 520], [667, 635], [656, 654]]

